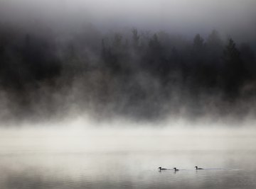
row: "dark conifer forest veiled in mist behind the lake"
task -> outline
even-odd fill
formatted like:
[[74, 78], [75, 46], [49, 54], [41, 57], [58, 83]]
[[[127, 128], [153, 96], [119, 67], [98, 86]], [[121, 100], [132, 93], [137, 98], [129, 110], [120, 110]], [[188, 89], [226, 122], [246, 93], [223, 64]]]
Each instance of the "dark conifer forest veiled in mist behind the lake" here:
[[28, 33], [0, 27], [0, 88], [9, 109], [1, 119], [54, 116], [70, 106], [97, 117], [254, 115], [255, 52], [216, 30], [186, 40], [137, 29]]

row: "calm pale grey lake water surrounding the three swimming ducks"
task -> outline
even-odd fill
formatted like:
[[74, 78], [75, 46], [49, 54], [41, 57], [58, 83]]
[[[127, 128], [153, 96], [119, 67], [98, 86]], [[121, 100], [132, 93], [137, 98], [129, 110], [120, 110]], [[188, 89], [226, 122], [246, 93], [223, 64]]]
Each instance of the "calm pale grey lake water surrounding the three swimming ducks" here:
[[[193, 140], [153, 133], [10, 133], [0, 139], [1, 189], [256, 188], [255, 137], [250, 134]], [[159, 166], [180, 171], [159, 172]]]

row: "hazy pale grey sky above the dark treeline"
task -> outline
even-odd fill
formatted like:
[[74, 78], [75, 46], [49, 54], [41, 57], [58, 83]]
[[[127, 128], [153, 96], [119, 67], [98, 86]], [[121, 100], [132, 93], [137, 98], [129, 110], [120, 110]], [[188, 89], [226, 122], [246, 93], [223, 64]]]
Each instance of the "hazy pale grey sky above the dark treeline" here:
[[[1, 19], [254, 36], [255, 0], [0, 0]], [[53, 19], [54, 18], [54, 19]], [[33, 19], [32, 19], [33, 20]], [[54, 23], [55, 24], [55, 23]]]

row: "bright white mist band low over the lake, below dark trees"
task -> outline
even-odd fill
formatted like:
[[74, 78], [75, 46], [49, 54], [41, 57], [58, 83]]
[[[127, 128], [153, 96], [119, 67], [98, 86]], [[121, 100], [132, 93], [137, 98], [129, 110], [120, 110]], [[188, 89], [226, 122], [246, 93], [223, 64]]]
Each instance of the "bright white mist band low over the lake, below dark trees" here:
[[0, 142], [5, 144], [1, 154], [255, 151], [255, 127], [248, 122], [242, 126], [184, 121], [159, 125], [127, 121], [99, 124], [81, 118], [58, 124], [14, 125], [0, 128]]

